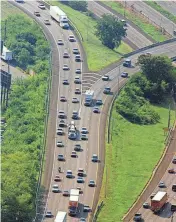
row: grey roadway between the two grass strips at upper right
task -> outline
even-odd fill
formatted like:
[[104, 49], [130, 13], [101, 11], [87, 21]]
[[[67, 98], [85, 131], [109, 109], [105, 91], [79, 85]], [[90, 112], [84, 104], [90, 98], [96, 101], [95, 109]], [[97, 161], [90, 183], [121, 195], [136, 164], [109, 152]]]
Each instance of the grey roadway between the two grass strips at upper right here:
[[175, 24], [172, 21], [142, 1], [127, 1], [127, 6], [132, 5], [138, 12], [142, 12], [149, 17], [150, 20], [154, 21], [158, 26], [163, 27], [173, 36], [173, 27]]

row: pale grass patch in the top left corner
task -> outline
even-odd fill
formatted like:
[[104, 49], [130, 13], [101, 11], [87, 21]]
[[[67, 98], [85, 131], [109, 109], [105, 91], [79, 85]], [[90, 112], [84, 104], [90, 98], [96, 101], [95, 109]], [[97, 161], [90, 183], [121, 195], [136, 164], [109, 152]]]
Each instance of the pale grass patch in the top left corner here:
[[20, 15], [23, 14], [25, 16], [25, 13], [23, 13], [21, 10], [19, 10], [15, 6], [11, 5], [9, 2], [2, 1], [1, 2], [1, 20], [5, 20], [9, 15], [13, 15], [13, 14], [20, 14]]

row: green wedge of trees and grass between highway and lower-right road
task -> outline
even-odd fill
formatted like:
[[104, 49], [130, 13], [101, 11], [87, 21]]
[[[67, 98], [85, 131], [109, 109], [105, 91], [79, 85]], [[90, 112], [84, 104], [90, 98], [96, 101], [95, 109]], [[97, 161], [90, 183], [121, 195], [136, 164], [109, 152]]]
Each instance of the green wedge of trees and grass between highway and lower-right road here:
[[113, 106], [98, 222], [121, 221], [162, 155], [163, 128], [174, 123], [176, 69], [166, 57], [140, 56], [138, 62], [142, 72], [131, 77]]

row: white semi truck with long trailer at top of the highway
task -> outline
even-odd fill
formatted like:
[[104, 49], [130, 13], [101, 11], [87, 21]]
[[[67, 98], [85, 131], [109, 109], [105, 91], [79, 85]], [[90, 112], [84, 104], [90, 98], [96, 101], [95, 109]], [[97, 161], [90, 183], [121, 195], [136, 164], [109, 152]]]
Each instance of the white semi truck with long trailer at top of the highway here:
[[50, 16], [59, 22], [60, 27], [64, 29], [69, 28], [67, 15], [58, 6], [50, 6]]

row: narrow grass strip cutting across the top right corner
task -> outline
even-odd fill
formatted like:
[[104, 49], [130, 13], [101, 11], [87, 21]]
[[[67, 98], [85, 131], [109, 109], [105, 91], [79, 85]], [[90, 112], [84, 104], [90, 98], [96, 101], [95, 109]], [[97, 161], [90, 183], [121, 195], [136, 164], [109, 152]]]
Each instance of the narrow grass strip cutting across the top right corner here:
[[149, 6], [151, 6], [152, 8], [154, 8], [156, 11], [160, 12], [162, 15], [167, 17], [169, 20], [176, 23], [176, 16], [174, 16], [172, 13], [168, 12], [166, 9], [164, 9], [163, 7], [158, 5], [157, 2], [145, 1], [145, 3]]

